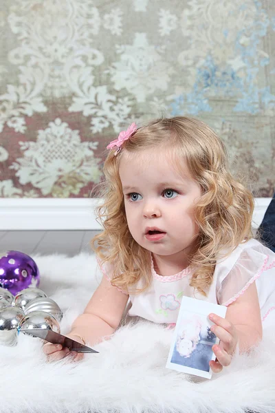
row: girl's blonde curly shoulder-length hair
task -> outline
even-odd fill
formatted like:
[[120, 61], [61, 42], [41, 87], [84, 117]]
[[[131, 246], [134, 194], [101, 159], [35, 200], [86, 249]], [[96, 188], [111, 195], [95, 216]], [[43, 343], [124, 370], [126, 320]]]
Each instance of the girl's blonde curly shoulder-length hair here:
[[223, 142], [200, 120], [184, 116], [153, 120], [124, 141], [118, 155], [109, 151], [104, 182], [95, 189], [96, 196], [104, 200], [96, 208], [103, 231], [91, 240], [91, 248], [101, 264], [111, 264], [113, 286], [129, 292], [140, 279], [144, 282], [138, 292], [150, 286], [151, 253], [135, 242], [127, 226], [119, 165], [125, 150], [139, 153], [155, 147], [164, 149], [179, 171], [184, 160], [201, 187], [201, 198], [195, 204], [199, 235], [190, 257], [195, 268], [190, 286], [207, 295], [217, 259], [252, 238], [254, 200], [230, 173]]

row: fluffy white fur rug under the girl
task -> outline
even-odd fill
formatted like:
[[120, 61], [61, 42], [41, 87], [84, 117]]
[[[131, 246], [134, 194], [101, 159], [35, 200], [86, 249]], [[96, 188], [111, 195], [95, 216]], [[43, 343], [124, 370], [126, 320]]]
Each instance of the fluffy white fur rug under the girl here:
[[[100, 281], [94, 255], [33, 256], [40, 288], [63, 309], [66, 333]], [[274, 328], [273, 328], [274, 330]], [[0, 413], [275, 412], [275, 332], [212, 379], [165, 368], [173, 332], [140, 321], [121, 327], [79, 363], [47, 363], [41, 341], [21, 335], [0, 346]]]

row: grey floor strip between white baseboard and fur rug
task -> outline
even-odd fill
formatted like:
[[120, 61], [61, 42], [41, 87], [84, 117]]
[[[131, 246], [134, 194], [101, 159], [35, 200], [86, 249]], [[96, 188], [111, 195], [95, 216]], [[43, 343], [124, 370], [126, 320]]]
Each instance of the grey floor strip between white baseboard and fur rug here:
[[15, 250], [28, 255], [77, 255], [91, 251], [89, 242], [99, 231], [0, 231], [0, 252]]

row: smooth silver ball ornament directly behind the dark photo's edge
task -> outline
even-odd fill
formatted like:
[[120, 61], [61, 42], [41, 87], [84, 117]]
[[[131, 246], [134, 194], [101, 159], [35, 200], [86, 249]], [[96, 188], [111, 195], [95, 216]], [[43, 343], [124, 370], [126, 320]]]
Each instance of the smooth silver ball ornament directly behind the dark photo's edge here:
[[43, 328], [46, 330], [53, 330], [55, 332], [60, 332], [60, 327], [58, 321], [53, 315], [45, 313], [44, 311], [34, 311], [28, 315], [25, 315], [19, 324], [19, 332], [28, 334], [29, 329], [32, 328]]

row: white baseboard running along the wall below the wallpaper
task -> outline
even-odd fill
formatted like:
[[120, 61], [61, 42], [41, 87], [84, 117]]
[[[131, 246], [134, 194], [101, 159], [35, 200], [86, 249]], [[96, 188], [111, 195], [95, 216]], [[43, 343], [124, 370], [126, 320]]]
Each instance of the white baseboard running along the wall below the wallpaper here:
[[[256, 198], [253, 227], [258, 228], [272, 198]], [[0, 231], [98, 230], [91, 198], [1, 198]]]

